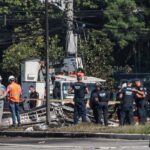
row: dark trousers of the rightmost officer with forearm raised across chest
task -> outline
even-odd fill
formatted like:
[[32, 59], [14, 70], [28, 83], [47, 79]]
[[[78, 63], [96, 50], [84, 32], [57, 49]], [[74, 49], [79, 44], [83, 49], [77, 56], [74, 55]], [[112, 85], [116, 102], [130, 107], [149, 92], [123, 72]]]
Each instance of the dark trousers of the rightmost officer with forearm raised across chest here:
[[144, 100], [138, 101], [137, 111], [138, 111], [138, 116], [140, 118], [140, 124], [145, 124], [145, 122], [146, 122], [146, 109], [145, 109], [145, 101]]

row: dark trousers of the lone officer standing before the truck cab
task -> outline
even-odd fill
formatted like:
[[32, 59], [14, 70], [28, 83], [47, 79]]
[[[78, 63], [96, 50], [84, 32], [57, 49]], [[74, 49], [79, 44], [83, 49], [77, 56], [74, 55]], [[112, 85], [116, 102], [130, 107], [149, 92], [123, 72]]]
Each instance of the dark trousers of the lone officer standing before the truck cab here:
[[84, 99], [75, 100], [74, 124], [78, 123], [80, 117], [82, 117], [82, 122], [87, 122], [87, 119], [86, 119], [86, 104], [84, 102]]

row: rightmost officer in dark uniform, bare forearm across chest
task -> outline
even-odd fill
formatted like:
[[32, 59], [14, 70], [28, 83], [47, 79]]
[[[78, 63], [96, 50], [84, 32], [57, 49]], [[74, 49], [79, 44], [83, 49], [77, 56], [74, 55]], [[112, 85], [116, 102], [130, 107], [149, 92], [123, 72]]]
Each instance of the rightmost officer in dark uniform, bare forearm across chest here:
[[140, 119], [140, 124], [144, 125], [146, 123], [146, 88], [142, 86], [142, 83], [140, 80], [135, 81], [135, 102], [137, 106], [138, 116]]

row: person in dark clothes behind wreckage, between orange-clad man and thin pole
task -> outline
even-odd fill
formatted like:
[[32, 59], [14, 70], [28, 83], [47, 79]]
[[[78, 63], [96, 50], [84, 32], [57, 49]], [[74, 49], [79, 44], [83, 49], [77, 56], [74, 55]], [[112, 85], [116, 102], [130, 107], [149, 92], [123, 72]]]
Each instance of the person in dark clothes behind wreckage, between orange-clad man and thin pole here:
[[[33, 85], [30, 86], [30, 109], [33, 109], [36, 107], [36, 99], [39, 99], [39, 93], [35, 90], [35, 87]], [[35, 99], [35, 100], [34, 100]]]

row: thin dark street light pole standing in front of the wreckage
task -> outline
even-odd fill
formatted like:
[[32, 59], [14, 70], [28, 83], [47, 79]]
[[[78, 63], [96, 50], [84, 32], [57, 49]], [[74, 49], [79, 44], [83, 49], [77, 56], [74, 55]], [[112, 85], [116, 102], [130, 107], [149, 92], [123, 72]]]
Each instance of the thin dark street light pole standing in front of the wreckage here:
[[49, 84], [49, 22], [48, 22], [48, 0], [45, 0], [45, 49], [46, 49], [46, 124], [50, 124], [50, 84]]

